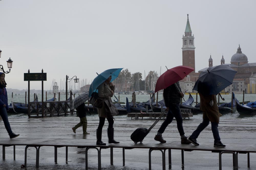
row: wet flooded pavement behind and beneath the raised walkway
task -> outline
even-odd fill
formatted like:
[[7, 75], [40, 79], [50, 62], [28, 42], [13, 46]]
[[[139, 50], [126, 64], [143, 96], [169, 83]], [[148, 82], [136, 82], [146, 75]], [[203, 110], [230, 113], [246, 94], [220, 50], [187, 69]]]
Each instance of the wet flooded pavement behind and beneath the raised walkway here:
[[[47, 118], [31, 118], [26, 115], [9, 115], [9, 122], [13, 132], [20, 134], [20, 137], [31, 138], [68, 138], [68, 139], [95, 139], [96, 129], [99, 119], [97, 115], [88, 115], [88, 132], [90, 135], [82, 135], [82, 127], [76, 130], [76, 134], [72, 132], [72, 127], [79, 122], [76, 115], [68, 115], [61, 117]], [[191, 119], [183, 122], [185, 135], [190, 135], [196, 127], [201, 123], [202, 115], [194, 115]], [[132, 132], [138, 127], [149, 128], [154, 120], [131, 120], [126, 115], [115, 116], [114, 136], [115, 140], [130, 139]], [[145, 137], [143, 143], [157, 143], [154, 136], [160, 127], [162, 120], [151, 130]], [[102, 132], [102, 141], [108, 142], [107, 137], [108, 122], [105, 122]], [[256, 116], [241, 117], [238, 113], [223, 115], [220, 119], [219, 132], [221, 141], [227, 145], [243, 145], [244, 142], [256, 141]], [[0, 123], [0, 137], [8, 138], [3, 123]], [[179, 133], [174, 120], [163, 133], [163, 137], [168, 141], [180, 142]], [[15, 140], [15, 139], [12, 139]], [[200, 144], [213, 145], [213, 136], [208, 126], [197, 139]], [[255, 142], [256, 143], [256, 142]], [[190, 144], [192, 145], [192, 144]], [[54, 163], [54, 147], [40, 148], [39, 168], [35, 167], [35, 148], [28, 149], [27, 168], [21, 168], [24, 164], [25, 146], [16, 146], [16, 160], [13, 160], [13, 147], [6, 147], [5, 160], [0, 156], [0, 169], [85, 169], [85, 148], [69, 147], [68, 162], [66, 163], [66, 148], [58, 148], [58, 162]], [[2, 147], [0, 147], [0, 155], [2, 155]], [[247, 154], [239, 154], [239, 170], [256, 169], [256, 153], [250, 154], [250, 167], [247, 168]], [[166, 153], [166, 169], [168, 169], [168, 154]], [[172, 150], [172, 165], [170, 169], [186, 169], [186, 170], [213, 170], [219, 169], [219, 154], [210, 151], [192, 151], [184, 152], [185, 163], [181, 162], [181, 151]], [[122, 149], [114, 149], [114, 162], [110, 165], [110, 149], [102, 149], [101, 152], [101, 168], [102, 169], [123, 169], [123, 170], [145, 170], [148, 169], [148, 149], [132, 149], [125, 150], [125, 166], [123, 166]], [[88, 151], [88, 169], [98, 169], [97, 151], [90, 149]], [[162, 155], [160, 151], [152, 152], [152, 169], [162, 169]], [[222, 169], [233, 169], [232, 155], [222, 155]]]

